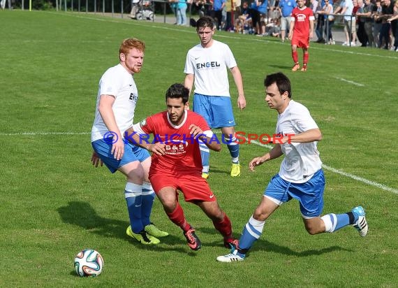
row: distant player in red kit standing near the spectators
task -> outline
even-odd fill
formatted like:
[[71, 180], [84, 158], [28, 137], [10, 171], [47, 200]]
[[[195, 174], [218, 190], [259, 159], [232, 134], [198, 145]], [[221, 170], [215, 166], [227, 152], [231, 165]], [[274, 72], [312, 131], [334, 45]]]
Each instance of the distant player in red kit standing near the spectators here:
[[309, 39], [314, 36], [314, 13], [305, 6], [304, 0], [297, 0], [297, 7], [293, 9], [290, 22], [289, 39], [292, 44], [292, 58], [295, 65], [292, 71], [300, 69], [298, 62], [297, 47], [302, 48], [304, 53], [301, 71], [307, 71]]

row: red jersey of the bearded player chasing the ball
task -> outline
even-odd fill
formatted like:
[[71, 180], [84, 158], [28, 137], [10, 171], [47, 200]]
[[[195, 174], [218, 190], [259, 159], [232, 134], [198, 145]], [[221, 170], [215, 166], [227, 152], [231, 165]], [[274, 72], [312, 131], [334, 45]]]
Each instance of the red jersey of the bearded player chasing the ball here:
[[154, 143], [165, 143], [165, 154], [152, 154], [149, 175], [154, 173], [202, 174], [202, 159], [199, 143], [189, 134], [189, 126], [195, 124], [203, 132], [211, 131], [205, 119], [193, 111], [186, 110], [184, 120], [175, 126], [168, 119], [167, 111], [147, 117], [140, 123], [142, 131], [138, 134], [153, 134]]

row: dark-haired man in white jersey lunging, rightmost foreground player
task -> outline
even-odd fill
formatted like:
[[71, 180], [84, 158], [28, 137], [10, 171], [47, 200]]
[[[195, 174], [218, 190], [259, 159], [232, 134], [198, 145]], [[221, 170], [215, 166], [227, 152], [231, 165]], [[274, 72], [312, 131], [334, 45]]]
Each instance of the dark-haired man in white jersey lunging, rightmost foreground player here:
[[322, 139], [320, 129], [312, 119], [309, 110], [291, 99], [290, 80], [286, 75], [283, 73], [267, 75], [264, 86], [268, 107], [278, 112], [276, 134], [280, 138], [270, 152], [252, 159], [249, 169], [254, 171], [256, 166], [283, 154], [285, 158], [281, 163], [279, 173], [270, 180], [263, 199], [244, 226], [238, 246], [235, 244], [230, 254], [217, 257], [217, 261], [244, 260], [246, 252], [263, 233], [265, 220], [283, 203], [291, 199], [297, 199], [300, 202], [304, 226], [311, 235], [332, 233], [344, 226], [353, 225], [360, 236], [366, 236], [368, 225], [361, 206], [344, 214], [330, 213], [320, 217], [325, 189], [322, 162], [316, 148], [317, 142]]

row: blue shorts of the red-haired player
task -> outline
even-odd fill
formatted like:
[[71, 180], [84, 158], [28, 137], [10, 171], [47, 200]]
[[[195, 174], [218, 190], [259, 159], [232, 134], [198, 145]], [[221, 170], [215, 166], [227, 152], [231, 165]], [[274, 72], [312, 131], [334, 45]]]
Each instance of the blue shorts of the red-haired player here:
[[104, 139], [98, 139], [91, 142], [94, 151], [108, 167], [110, 172], [115, 173], [117, 169], [133, 161], [144, 161], [150, 157], [149, 152], [144, 148], [135, 146], [127, 141], [124, 142], [124, 154], [120, 160], [115, 159], [110, 153], [112, 151], [112, 143]]

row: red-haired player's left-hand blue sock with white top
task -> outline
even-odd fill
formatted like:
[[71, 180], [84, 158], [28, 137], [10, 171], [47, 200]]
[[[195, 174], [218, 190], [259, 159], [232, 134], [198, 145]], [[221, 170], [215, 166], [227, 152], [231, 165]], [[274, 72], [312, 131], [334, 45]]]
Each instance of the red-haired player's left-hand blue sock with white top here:
[[126, 198], [128, 217], [130, 218], [131, 230], [134, 233], [140, 233], [144, 226], [141, 221], [142, 205], [142, 186], [127, 182], [124, 188], [124, 197]]

